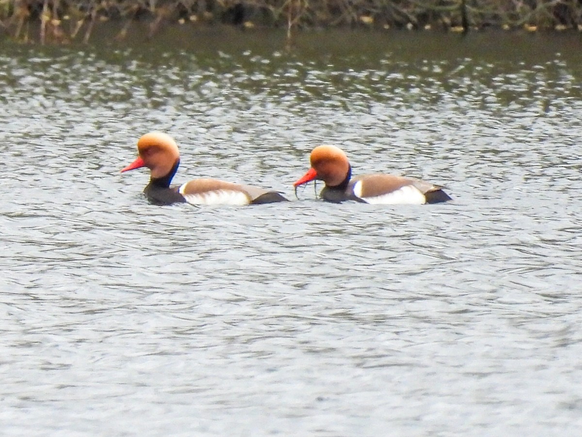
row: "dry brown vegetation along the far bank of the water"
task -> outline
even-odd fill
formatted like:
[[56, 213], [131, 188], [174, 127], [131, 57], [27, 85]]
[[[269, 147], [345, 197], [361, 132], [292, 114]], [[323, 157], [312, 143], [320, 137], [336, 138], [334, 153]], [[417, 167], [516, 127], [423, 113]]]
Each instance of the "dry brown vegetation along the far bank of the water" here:
[[0, 0], [0, 32], [17, 41], [88, 41], [116, 20], [123, 39], [134, 20], [242, 27], [371, 27], [468, 31], [582, 30], [582, 0]]

